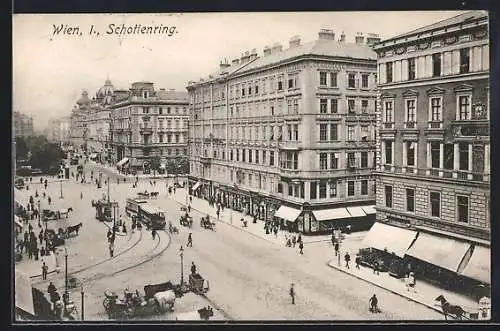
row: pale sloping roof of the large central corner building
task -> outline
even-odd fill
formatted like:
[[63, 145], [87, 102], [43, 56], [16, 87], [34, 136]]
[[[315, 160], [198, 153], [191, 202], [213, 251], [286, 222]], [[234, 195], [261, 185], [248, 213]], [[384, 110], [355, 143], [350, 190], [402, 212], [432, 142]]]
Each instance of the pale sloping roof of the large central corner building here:
[[318, 39], [296, 47], [257, 58], [240, 72], [246, 72], [302, 55], [319, 55], [340, 57], [346, 59], [377, 60], [377, 53], [366, 44], [338, 42], [335, 40]]

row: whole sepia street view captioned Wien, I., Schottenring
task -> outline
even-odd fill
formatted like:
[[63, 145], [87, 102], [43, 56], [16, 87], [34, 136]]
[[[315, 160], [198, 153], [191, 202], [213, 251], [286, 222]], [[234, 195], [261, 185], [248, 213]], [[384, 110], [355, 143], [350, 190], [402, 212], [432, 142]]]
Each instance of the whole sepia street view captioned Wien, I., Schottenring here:
[[12, 323], [491, 320], [487, 11], [12, 15]]

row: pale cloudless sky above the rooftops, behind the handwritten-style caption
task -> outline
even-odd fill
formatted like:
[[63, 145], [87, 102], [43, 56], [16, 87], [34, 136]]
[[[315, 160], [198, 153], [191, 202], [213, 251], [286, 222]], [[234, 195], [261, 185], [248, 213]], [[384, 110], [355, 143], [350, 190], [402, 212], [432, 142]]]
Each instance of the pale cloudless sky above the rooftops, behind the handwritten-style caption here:
[[[283, 12], [183, 14], [13, 15], [13, 110], [32, 115], [36, 129], [50, 118], [68, 116], [83, 90], [94, 96], [109, 78], [115, 88], [154, 82], [156, 88], [185, 91], [187, 82], [215, 72], [245, 51], [293, 36], [301, 43], [331, 29], [354, 42], [357, 32], [382, 39], [458, 15], [460, 11]], [[108, 34], [109, 25], [162, 25], [175, 33]], [[81, 35], [54, 33], [78, 27]], [[90, 33], [92, 28], [93, 33]], [[97, 35], [95, 32], [99, 32]]]

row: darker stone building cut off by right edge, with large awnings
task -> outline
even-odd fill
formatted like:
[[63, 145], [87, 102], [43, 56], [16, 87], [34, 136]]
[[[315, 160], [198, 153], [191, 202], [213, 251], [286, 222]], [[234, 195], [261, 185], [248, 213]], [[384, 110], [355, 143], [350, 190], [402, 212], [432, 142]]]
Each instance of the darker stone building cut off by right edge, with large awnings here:
[[403, 249], [422, 277], [490, 283], [487, 14], [468, 12], [375, 50], [379, 232], [372, 244]]

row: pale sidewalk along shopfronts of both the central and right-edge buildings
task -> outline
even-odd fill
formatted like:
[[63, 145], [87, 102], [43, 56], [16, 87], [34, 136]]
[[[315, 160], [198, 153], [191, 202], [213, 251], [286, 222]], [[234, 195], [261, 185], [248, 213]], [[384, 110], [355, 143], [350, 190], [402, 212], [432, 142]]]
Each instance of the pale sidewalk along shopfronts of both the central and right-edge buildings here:
[[[177, 189], [176, 193], [172, 196], [173, 199], [178, 203], [183, 205], [186, 204], [186, 191], [184, 189]], [[191, 208], [205, 214], [208, 213], [212, 218], [217, 219], [216, 208], [211, 207], [206, 200], [193, 196]], [[240, 221], [242, 217], [248, 220], [247, 227], [242, 226]], [[227, 208], [224, 209], [223, 212], [221, 212], [221, 216], [219, 218], [219, 221], [225, 222], [226, 224], [229, 224], [238, 230], [245, 231], [252, 236], [261, 238], [273, 244], [285, 246], [285, 235], [287, 234], [286, 231], [278, 231], [277, 236], [275, 236], [274, 234], [266, 234], [262, 221], [252, 223], [251, 220], [251, 217], [245, 217], [244, 214]], [[355, 256], [358, 250], [364, 247], [362, 244], [362, 240], [366, 233], [367, 231], [344, 235], [341, 247], [342, 254], [345, 254], [345, 252], [349, 251], [351, 256]], [[325, 250], [328, 250], [329, 252], [333, 251], [331, 244], [331, 235], [303, 235], [302, 239], [304, 241], [304, 251], [308, 250], [312, 246], [318, 245], [323, 247]], [[404, 279], [396, 279], [394, 277], [391, 277], [388, 273], [380, 273], [379, 275], [375, 275], [372, 269], [366, 267], [360, 267], [359, 270], [354, 267], [347, 269], [344, 267], [343, 259], [341, 259], [341, 266], [338, 265], [337, 258], [330, 259], [327, 265], [330, 268], [342, 271], [353, 277], [376, 285], [398, 296], [422, 304], [439, 313], [442, 313], [441, 306], [434, 299], [441, 294], [445, 298], [447, 298], [449, 302], [451, 302], [452, 304], [460, 305], [467, 312], [477, 312], [479, 308], [478, 302], [472, 300], [471, 298], [433, 286], [423, 281], [418, 281], [416, 291], [408, 291], [405, 286]]]

